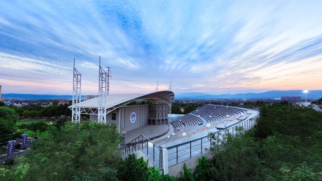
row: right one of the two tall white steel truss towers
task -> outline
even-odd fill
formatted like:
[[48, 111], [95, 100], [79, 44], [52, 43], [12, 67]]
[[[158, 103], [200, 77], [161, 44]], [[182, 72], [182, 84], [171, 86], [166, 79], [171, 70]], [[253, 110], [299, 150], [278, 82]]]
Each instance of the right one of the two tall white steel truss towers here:
[[106, 123], [106, 89], [107, 89], [107, 73], [100, 65], [99, 56], [99, 102], [98, 102], [98, 122]]

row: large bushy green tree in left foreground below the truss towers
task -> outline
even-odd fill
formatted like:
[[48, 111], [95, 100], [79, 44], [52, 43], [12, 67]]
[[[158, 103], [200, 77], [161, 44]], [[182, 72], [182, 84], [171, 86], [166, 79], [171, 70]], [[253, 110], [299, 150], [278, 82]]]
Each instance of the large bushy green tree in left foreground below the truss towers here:
[[114, 153], [121, 136], [115, 127], [94, 121], [66, 122], [60, 129], [50, 127], [48, 134], [15, 160], [7, 180], [14, 180], [13, 173], [23, 166], [29, 168], [21, 180], [117, 180]]

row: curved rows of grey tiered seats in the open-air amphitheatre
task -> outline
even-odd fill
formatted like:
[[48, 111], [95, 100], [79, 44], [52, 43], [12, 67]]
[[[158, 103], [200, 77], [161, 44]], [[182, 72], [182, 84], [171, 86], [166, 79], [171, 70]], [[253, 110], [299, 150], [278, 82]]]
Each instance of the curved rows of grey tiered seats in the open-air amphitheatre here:
[[227, 115], [229, 116], [227, 120], [233, 120], [237, 117], [240, 117], [242, 113], [246, 113], [246, 111], [235, 107], [207, 104], [192, 111], [189, 114], [186, 114], [185, 116], [181, 117], [179, 120], [172, 122], [171, 124], [175, 128], [175, 132], [178, 132], [197, 126], [199, 125], [199, 123], [206, 124], [212, 123], [213, 121], [227, 119]]

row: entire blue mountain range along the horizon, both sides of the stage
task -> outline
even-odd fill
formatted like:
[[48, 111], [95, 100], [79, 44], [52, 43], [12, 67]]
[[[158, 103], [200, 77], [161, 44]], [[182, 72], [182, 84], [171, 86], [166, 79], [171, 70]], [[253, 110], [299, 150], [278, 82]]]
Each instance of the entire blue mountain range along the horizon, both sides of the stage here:
[[[191, 92], [184, 94], [175, 94], [175, 98], [280, 98], [281, 96], [301, 96], [302, 99], [305, 99], [305, 94], [303, 90], [272, 90], [268, 92], [261, 93], [240, 93], [240, 94], [205, 94], [200, 92]], [[39, 95], [39, 94], [2, 94], [4, 98], [15, 98], [15, 99], [66, 99], [71, 100], [71, 95]], [[322, 90], [309, 90], [307, 94], [307, 98], [316, 99], [322, 97]], [[82, 99], [85, 99], [86, 96], [81, 96]]]

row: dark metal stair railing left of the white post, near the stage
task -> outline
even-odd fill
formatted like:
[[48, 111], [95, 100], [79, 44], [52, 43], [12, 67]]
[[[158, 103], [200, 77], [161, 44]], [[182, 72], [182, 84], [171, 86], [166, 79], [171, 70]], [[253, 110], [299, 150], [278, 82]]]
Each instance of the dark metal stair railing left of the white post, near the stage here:
[[150, 161], [153, 160], [153, 163], [158, 163], [159, 167], [162, 168], [162, 147], [157, 146], [144, 135], [138, 136], [137, 138], [119, 148], [117, 155], [123, 156], [134, 153], [137, 150], [142, 150], [142, 152], [144, 154], [146, 153], [146, 156], [150, 158]]

